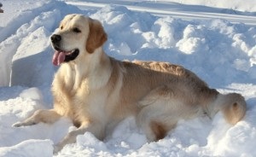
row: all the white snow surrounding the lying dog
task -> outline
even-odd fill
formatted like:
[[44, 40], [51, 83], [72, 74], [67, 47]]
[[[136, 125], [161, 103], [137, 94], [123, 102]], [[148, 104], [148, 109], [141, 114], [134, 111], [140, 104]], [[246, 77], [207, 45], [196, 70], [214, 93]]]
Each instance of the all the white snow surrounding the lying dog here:
[[131, 117], [104, 141], [86, 132], [55, 156], [256, 156], [255, 0], [2, 3], [0, 156], [52, 156], [53, 144], [75, 129], [65, 118], [54, 125], [12, 127], [39, 108], [52, 108], [49, 89], [56, 67], [49, 36], [71, 13], [101, 20], [108, 55], [180, 64], [222, 93], [241, 93], [247, 114], [234, 126], [221, 113], [181, 120], [167, 137], [149, 143]]

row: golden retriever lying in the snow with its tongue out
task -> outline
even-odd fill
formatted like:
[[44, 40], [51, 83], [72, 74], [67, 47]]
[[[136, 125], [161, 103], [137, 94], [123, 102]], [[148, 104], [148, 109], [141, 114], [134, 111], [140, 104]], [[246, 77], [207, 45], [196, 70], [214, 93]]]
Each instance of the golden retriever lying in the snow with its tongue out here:
[[247, 109], [243, 96], [210, 89], [184, 67], [157, 61], [117, 61], [102, 46], [102, 24], [84, 15], [67, 15], [51, 37], [53, 64], [60, 66], [52, 83], [54, 108], [38, 110], [14, 126], [53, 124], [72, 119], [76, 130], [55, 145], [58, 152], [86, 131], [102, 140], [119, 121], [134, 116], [148, 138], [157, 141], [177, 125], [218, 111], [232, 125]]

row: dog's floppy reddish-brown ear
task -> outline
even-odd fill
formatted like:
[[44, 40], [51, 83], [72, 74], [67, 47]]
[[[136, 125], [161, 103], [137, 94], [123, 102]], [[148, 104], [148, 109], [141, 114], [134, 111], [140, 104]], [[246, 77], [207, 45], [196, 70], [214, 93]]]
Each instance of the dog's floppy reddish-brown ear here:
[[98, 20], [89, 18], [89, 26], [90, 32], [86, 42], [86, 50], [91, 54], [95, 49], [99, 48], [107, 41], [108, 36], [106, 32], [104, 32], [101, 22]]

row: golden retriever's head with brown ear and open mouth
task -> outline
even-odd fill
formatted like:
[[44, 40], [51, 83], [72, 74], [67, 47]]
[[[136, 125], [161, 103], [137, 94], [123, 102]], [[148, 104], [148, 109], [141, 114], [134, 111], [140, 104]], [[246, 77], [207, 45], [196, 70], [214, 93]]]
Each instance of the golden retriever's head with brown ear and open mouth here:
[[74, 61], [79, 55], [93, 54], [107, 41], [107, 34], [98, 20], [84, 15], [67, 15], [50, 39], [55, 49], [52, 61], [57, 66]]

